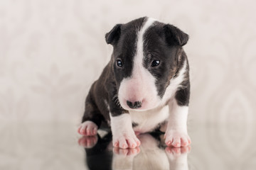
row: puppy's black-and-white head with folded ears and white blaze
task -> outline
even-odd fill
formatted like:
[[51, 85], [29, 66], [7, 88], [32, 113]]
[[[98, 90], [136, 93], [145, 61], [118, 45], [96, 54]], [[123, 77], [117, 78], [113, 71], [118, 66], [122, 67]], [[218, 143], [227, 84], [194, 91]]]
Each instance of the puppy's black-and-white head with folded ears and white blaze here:
[[112, 67], [122, 108], [146, 111], [159, 106], [188, 35], [144, 17], [117, 24], [105, 38], [113, 46]]

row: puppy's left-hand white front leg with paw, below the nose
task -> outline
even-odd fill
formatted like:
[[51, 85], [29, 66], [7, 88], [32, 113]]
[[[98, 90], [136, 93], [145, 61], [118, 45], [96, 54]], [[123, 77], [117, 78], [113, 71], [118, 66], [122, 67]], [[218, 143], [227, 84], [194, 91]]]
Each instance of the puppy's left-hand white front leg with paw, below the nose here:
[[113, 135], [113, 146], [122, 149], [135, 148], [140, 145], [134, 130], [132, 129], [132, 120], [129, 113], [113, 115], [110, 113], [110, 123]]

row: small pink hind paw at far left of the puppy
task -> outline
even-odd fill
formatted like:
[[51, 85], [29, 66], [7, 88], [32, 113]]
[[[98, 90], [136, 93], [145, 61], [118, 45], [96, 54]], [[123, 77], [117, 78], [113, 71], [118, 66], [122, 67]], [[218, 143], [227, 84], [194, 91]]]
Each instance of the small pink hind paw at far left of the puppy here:
[[78, 133], [84, 136], [97, 135], [97, 125], [92, 121], [87, 120], [79, 126]]

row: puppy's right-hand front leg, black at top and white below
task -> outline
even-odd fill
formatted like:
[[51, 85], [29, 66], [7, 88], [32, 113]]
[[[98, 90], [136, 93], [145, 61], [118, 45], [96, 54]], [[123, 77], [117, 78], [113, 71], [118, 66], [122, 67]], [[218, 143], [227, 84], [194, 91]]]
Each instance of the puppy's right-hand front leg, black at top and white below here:
[[169, 123], [166, 130], [166, 145], [186, 147], [191, 144], [187, 132], [189, 86], [176, 92], [176, 96], [169, 102]]

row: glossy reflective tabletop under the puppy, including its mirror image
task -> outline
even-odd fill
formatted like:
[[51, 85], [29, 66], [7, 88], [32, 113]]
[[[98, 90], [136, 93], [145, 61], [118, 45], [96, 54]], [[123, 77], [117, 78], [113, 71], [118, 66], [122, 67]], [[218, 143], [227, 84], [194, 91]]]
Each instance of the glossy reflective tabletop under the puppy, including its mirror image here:
[[135, 149], [112, 147], [111, 134], [81, 137], [69, 123], [0, 125], [0, 169], [255, 169], [255, 125], [188, 125], [190, 147], [165, 147], [139, 135]]

